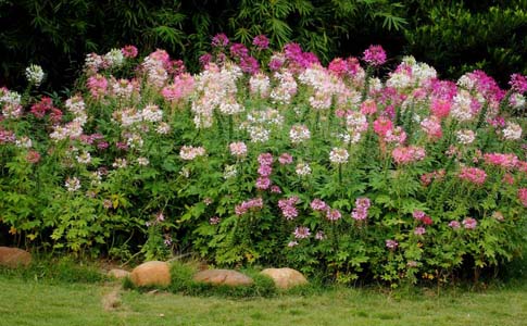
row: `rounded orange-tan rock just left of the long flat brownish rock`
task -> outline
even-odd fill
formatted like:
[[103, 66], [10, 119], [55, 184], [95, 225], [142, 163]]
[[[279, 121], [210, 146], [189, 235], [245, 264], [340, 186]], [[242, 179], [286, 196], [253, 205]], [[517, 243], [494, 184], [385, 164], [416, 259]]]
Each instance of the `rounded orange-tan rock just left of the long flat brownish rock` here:
[[171, 284], [171, 266], [165, 262], [151, 261], [140, 264], [130, 273], [135, 286], [168, 286]]

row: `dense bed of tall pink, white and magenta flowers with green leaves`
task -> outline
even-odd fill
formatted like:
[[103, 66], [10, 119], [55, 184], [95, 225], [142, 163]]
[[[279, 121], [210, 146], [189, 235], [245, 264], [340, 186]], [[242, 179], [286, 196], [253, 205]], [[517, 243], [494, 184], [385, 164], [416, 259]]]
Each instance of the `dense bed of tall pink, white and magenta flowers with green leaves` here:
[[342, 283], [447, 280], [520, 254], [525, 76], [453, 83], [407, 57], [381, 80], [379, 46], [327, 67], [267, 47], [216, 36], [195, 75], [163, 50], [92, 53], [66, 101], [2, 88], [1, 223], [29, 246]]

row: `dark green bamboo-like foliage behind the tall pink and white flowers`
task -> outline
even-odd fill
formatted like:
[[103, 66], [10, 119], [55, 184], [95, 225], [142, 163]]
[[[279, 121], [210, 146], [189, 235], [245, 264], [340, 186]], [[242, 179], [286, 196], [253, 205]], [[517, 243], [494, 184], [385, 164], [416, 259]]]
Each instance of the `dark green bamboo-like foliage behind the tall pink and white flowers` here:
[[527, 73], [526, 0], [0, 0], [0, 86], [10, 88], [36, 63], [48, 73], [45, 88], [60, 89], [86, 53], [126, 43], [166, 49], [196, 72], [221, 32], [244, 43], [265, 34], [277, 48], [297, 41], [324, 63], [381, 43], [442, 78], [481, 68], [503, 86], [511, 73]]

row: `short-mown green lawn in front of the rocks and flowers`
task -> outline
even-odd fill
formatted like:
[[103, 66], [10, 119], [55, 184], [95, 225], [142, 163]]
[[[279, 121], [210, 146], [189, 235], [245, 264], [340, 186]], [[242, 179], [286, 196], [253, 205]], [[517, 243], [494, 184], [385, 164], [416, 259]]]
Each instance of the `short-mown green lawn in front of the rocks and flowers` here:
[[0, 325], [527, 325], [527, 286], [397, 296], [328, 289], [226, 299], [0, 275]]

